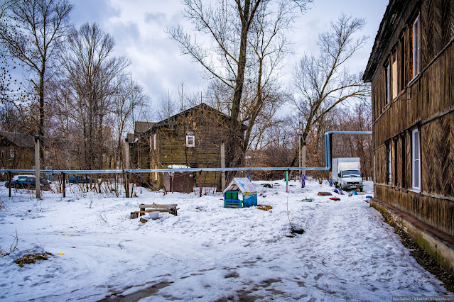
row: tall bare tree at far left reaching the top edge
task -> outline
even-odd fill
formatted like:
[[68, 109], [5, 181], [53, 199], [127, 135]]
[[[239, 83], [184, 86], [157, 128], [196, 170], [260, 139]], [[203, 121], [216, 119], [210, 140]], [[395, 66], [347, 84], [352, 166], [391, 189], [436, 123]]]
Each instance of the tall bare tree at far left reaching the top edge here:
[[[8, 10], [13, 21], [0, 27], [0, 39], [13, 57], [36, 74], [32, 82], [38, 94], [38, 135], [43, 142], [45, 83], [53, 75], [53, 60], [70, 30], [72, 4], [66, 0], [19, 0], [12, 1]], [[42, 147], [40, 157], [44, 160]]]

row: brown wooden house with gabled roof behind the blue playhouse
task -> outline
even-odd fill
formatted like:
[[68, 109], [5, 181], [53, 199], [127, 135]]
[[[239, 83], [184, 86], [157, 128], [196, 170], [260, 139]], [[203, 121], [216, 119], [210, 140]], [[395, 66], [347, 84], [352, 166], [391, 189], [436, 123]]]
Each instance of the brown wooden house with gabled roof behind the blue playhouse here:
[[[227, 142], [229, 125], [229, 116], [203, 103], [158, 123], [150, 123], [148, 130], [141, 129], [141, 133], [136, 131], [134, 135], [134, 143], [131, 144], [134, 150], [130, 151], [131, 161], [136, 162], [133, 167], [220, 168], [222, 142]], [[242, 130], [244, 133], [244, 126]], [[193, 174], [193, 181], [194, 186], [201, 183], [202, 187], [220, 189], [221, 173]], [[143, 174], [141, 182], [162, 188], [164, 178], [159, 173]]]

